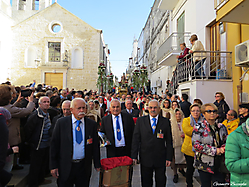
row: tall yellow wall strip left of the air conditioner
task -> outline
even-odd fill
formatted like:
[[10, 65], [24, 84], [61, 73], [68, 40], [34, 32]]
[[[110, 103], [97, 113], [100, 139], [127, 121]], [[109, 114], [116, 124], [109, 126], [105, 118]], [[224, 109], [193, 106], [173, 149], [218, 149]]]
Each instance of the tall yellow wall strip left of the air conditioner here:
[[234, 109], [238, 109], [238, 92], [237, 86], [240, 85], [241, 68], [235, 66], [235, 46], [241, 43], [240, 41], [240, 24], [227, 23], [227, 50], [232, 51], [232, 66], [233, 66], [233, 103]]

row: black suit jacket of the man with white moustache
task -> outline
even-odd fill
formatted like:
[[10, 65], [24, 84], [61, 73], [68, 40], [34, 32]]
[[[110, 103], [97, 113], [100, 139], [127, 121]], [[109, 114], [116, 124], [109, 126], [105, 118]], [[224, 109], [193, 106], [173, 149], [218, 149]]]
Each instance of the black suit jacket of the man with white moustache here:
[[[100, 168], [100, 150], [97, 133], [97, 123], [84, 117], [85, 121], [85, 169], [92, 168], [92, 159], [95, 168]], [[92, 143], [87, 144], [87, 139], [92, 138]], [[51, 169], [59, 169], [60, 178], [67, 180], [70, 174], [73, 158], [73, 132], [72, 116], [58, 119], [56, 122], [51, 146]]]

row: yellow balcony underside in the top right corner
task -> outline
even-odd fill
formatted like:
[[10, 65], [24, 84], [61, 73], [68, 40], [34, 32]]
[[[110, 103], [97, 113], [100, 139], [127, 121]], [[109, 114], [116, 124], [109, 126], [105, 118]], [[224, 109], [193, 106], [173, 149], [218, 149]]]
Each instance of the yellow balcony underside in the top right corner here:
[[216, 21], [249, 24], [249, 0], [216, 0], [221, 1], [216, 7]]

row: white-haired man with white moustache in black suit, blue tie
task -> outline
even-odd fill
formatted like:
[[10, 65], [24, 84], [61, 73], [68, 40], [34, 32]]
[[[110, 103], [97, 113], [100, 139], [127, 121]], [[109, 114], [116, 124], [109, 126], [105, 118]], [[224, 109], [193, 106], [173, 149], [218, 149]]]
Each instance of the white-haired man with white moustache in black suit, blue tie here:
[[89, 186], [92, 159], [100, 170], [97, 123], [85, 117], [86, 103], [82, 98], [71, 102], [71, 116], [60, 118], [51, 141], [51, 174], [59, 187]]

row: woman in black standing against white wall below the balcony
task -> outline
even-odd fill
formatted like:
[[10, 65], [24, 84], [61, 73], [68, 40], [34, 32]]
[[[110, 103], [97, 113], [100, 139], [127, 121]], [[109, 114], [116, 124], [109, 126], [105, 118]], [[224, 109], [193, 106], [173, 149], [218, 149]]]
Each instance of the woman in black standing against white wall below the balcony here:
[[218, 123], [222, 123], [226, 119], [226, 114], [230, 110], [228, 104], [225, 101], [225, 96], [222, 92], [215, 93], [214, 104], [218, 108]]

